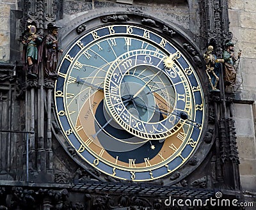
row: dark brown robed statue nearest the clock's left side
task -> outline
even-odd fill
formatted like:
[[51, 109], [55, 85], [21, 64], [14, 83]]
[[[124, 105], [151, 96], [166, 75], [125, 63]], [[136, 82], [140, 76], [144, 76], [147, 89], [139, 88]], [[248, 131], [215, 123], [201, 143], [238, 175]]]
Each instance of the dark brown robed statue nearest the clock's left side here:
[[45, 75], [50, 77], [56, 77], [58, 58], [63, 50], [58, 44], [58, 27], [51, 25], [48, 28], [49, 34], [47, 34], [47, 36], [45, 37]]

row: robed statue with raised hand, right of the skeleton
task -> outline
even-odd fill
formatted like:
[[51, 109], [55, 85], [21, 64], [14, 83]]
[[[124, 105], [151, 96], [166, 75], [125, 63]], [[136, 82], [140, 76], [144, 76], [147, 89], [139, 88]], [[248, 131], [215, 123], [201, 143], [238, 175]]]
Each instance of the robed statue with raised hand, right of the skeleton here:
[[227, 43], [225, 43], [223, 59], [225, 64], [224, 80], [226, 91], [227, 89], [230, 89], [229, 87], [232, 87], [234, 90], [234, 86], [236, 83], [236, 69], [234, 65], [236, 64], [236, 61], [240, 58], [241, 52], [242, 51], [240, 50], [238, 55], [235, 56], [234, 43], [232, 41], [228, 41]]

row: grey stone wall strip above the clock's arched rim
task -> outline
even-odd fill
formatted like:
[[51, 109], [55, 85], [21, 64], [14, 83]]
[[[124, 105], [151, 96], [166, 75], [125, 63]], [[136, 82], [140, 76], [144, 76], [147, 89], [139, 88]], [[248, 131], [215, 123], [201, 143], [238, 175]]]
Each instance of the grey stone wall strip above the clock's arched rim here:
[[[79, 13], [88, 12], [89, 10], [104, 9], [104, 11], [113, 11], [113, 8], [116, 8], [116, 11], [123, 11], [127, 8], [135, 8], [138, 10], [143, 10], [150, 15], [154, 15], [159, 19], [168, 20], [189, 29], [189, 16], [191, 21], [196, 22], [196, 15], [189, 14], [189, 7], [191, 10], [196, 10], [196, 0], [191, 1], [191, 4], [188, 4], [186, 0], [179, 1], [149, 1], [149, 0], [137, 0], [133, 1], [132, 5], [117, 3], [118, 1], [77, 1], [77, 0], [67, 0], [63, 3], [63, 18], [64, 19], [74, 19], [74, 16], [79, 15]], [[126, 1], [127, 3], [130, 1]], [[192, 4], [193, 2], [193, 4]], [[198, 7], [198, 5], [197, 5]], [[111, 9], [109, 9], [111, 8]], [[194, 28], [194, 27], [193, 27]], [[198, 30], [197, 30], [198, 31]]]

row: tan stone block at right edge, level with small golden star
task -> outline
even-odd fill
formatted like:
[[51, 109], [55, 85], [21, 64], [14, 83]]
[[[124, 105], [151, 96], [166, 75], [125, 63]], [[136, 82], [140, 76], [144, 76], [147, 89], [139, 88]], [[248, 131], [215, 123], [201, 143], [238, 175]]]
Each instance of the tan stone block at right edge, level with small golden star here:
[[253, 137], [237, 137], [237, 147], [239, 158], [256, 158], [255, 139]]

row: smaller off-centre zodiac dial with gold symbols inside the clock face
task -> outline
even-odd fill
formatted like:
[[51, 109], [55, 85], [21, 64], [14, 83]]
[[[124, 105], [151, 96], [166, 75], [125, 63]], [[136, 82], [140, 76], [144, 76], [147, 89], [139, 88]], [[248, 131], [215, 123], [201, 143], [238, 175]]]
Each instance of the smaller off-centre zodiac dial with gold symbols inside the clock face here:
[[[166, 70], [163, 60], [163, 54], [134, 50], [118, 57], [106, 74], [106, 110], [124, 130], [142, 139], [176, 133], [182, 126], [177, 116], [188, 105], [185, 90], [177, 93], [173, 87], [173, 81], [182, 80], [179, 69]], [[183, 97], [179, 103], [177, 94]]]

